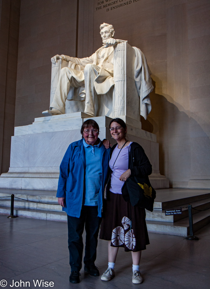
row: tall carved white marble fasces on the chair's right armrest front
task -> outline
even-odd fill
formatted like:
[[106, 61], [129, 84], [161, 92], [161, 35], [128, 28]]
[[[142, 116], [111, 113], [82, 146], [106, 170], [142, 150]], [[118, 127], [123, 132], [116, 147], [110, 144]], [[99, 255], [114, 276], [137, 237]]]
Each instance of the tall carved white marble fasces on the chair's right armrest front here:
[[114, 49], [114, 117], [125, 115], [126, 43]]

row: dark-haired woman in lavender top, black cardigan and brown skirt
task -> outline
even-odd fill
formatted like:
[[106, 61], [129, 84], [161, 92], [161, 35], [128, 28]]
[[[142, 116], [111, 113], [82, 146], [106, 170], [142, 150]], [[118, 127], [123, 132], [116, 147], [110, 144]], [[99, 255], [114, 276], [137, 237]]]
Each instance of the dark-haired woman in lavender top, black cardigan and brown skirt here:
[[[126, 139], [127, 127], [123, 120], [116, 118], [110, 122], [112, 138], [117, 141], [111, 150], [109, 162], [110, 177], [107, 183], [107, 200], [103, 205], [103, 220], [100, 239], [108, 240], [108, 269], [101, 280], [109, 281], [114, 277], [114, 266], [119, 247], [131, 251], [133, 260], [134, 284], [142, 283], [139, 262], [142, 250], [149, 244], [145, 222], [145, 209], [132, 207], [130, 201], [122, 197], [122, 186], [130, 176], [148, 178], [152, 166], [143, 148]], [[105, 143], [106, 145], [106, 143]], [[131, 152], [133, 165], [129, 161]]]

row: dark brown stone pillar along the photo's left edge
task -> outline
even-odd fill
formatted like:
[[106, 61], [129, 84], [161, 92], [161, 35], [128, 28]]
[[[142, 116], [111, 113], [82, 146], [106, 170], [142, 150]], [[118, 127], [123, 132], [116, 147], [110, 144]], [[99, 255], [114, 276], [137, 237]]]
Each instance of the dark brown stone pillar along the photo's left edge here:
[[7, 172], [14, 135], [20, 0], [0, 1], [0, 173]]

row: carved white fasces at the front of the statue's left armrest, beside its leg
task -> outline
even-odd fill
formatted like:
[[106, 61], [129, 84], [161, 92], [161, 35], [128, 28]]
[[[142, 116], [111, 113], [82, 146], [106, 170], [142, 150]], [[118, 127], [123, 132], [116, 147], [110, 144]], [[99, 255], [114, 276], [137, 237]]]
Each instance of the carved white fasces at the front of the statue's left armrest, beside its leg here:
[[58, 85], [58, 78], [60, 76], [61, 68], [67, 67], [67, 66], [68, 66], [68, 62], [65, 60], [61, 60], [61, 59], [58, 59], [55, 63], [52, 63], [50, 104], [53, 101], [55, 90]]

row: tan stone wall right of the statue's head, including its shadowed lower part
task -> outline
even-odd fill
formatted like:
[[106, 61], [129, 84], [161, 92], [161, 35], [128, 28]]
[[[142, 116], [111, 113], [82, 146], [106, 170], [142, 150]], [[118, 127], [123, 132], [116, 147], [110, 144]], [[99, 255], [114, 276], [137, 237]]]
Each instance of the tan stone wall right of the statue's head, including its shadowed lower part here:
[[94, 49], [104, 19], [116, 38], [143, 51], [152, 71], [152, 112], [142, 129], [157, 135], [160, 172], [173, 187], [210, 187], [209, 1], [141, 0], [109, 11], [97, 4]]

